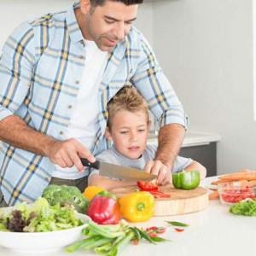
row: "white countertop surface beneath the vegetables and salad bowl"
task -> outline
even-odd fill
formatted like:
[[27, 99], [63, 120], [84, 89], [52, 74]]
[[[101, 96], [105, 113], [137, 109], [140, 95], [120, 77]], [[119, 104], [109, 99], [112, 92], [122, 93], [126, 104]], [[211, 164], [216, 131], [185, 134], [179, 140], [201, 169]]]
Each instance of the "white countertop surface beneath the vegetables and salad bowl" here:
[[[211, 183], [217, 177], [207, 177], [201, 186]], [[174, 255], [174, 256], [215, 256], [215, 255], [256, 255], [256, 217], [236, 216], [229, 212], [230, 207], [224, 206], [219, 200], [209, 201], [209, 207], [201, 212], [193, 212], [178, 216], [154, 217], [148, 222], [134, 224], [137, 227], [163, 226], [165, 221], [178, 221], [189, 224], [183, 232], [172, 227], [163, 235], [170, 242], [156, 245], [141, 242], [139, 245], [127, 245], [118, 255]], [[44, 253], [45, 254], [45, 253]], [[47, 255], [97, 255], [83, 252], [65, 253], [58, 251]], [[25, 255], [0, 247], [0, 255]], [[26, 253], [26, 255], [30, 255]], [[31, 254], [32, 255], [32, 254]], [[43, 255], [38, 253], [37, 255]]]

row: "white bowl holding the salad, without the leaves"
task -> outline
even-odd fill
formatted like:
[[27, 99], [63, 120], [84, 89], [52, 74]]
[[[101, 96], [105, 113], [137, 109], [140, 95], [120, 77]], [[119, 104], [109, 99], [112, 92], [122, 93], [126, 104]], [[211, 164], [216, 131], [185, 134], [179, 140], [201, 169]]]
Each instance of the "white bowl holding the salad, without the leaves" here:
[[82, 238], [82, 230], [90, 217], [78, 213], [84, 224], [79, 227], [50, 232], [7, 232], [0, 231], [0, 245], [21, 253], [47, 253], [67, 247]]

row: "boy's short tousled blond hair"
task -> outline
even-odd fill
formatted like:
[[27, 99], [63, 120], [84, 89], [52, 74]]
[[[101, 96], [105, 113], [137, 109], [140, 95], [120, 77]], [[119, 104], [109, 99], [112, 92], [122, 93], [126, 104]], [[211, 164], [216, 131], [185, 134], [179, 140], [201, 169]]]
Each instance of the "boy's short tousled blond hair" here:
[[127, 110], [133, 113], [143, 110], [148, 115], [148, 103], [138, 93], [135, 87], [125, 85], [108, 102], [108, 129], [111, 129], [113, 117], [120, 110]]

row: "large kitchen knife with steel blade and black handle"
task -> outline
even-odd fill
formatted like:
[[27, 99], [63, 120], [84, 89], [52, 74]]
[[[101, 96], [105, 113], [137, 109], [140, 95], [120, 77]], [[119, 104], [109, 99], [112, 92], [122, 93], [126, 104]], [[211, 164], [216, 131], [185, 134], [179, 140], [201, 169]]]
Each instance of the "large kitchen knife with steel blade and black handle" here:
[[96, 160], [94, 163], [91, 163], [85, 158], [80, 158], [80, 160], [83, 166], [99, 170], [100, 175], [103, 177], [115, 177], [133, 181], [146, 181], [157, 178], [157, 176], [152, 173], [143, 172], [131, 167], [117, 166], [99, 160]]

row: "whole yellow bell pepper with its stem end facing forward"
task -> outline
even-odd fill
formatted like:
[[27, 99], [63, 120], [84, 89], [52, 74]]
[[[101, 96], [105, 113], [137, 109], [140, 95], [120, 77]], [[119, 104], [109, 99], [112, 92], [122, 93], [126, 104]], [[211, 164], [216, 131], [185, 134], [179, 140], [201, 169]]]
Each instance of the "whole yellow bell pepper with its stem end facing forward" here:
[[154, 196], [146, 191], [132, 192], [119, 199], [120, 213], [131, 222], [147, 221], [154, 215]]

